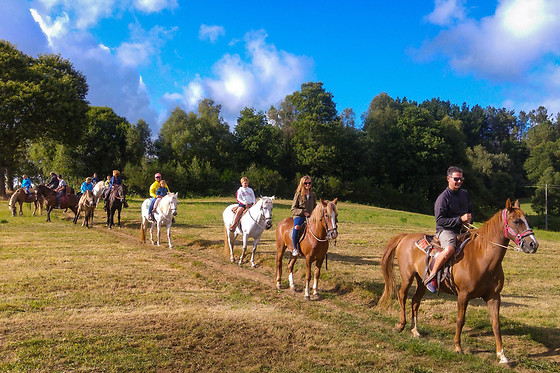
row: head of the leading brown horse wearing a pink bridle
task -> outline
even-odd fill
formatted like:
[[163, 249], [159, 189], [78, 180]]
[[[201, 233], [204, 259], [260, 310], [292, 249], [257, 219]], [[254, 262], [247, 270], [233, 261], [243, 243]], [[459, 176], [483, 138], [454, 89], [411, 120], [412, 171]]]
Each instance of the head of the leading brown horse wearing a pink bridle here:
[[526, 253], [535, 253], [539, 247], [539, 241], [529, 226], [527, 217], [519, 207], [519, 200], [512, 205], [506, 201], [506, 208], [502, 211], [502, 219], [505, 225], [505, 236], [517, 245], [518, 249]]

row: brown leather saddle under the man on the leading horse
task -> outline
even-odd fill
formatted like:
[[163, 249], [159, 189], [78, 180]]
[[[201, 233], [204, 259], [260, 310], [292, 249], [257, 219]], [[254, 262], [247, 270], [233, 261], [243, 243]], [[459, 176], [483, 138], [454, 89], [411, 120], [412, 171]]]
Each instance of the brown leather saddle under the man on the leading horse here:
[[[457, 287], [455, 286], [455, 282], [453, 281], [452, 264], [457, 260], [459, 255], [461, 255], [463, 249], [470, 240], [471, 233], [469, 231], [461, 233], [457, 236], [458, 248], [455, 250], [453, 256], [443, 264], [436, 275], [438, 292], [441, 283], [444, 283], [453, 294], [457, 295]], [[434, 267], [434, 259], [439, 255], [439, 253], [444, 250], [444, 248], [441, 247], [439, 238], [434, 235], [425, 235], [424, 237], [416, 241], [415, 245], [418, 249], [422, 250], [426, 254], [426, 270], [424, 271], [423, 277], [425, 279], [428, 275], [428, 272], [431, 272]]]

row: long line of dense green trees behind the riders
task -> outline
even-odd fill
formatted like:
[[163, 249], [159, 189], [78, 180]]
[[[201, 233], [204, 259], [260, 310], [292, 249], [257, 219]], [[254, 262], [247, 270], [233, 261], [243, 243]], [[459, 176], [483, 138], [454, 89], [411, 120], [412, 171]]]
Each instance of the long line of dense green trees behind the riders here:
[[[0, 194], [23, 173], [37, 183], [54, 170], [81, 183], [119, 169], [143, 196], [161, 172], [182, 196], [232, 195], [245, 175], [257, 193], [290, 198], [309, 174], [324, 198], [432, 213], [457, 165], [485, 218], [508, 197], [531, 198], [542, 213], [545, 185], [560, 185], [560, 116], [542, 106], [516, 115], [380, 93], [359, 126], [321, 82], [308, 82], [266, 112], [244, 108], [232, 128], [211, 99], [196, 112], [177, 107], [152, 136], [142, 119], [90, 106], [87, 91], [70, 61], [0, 42]], [[549, 189], [549, 214], [560, 215], [558, 202], [560, 190]]]

